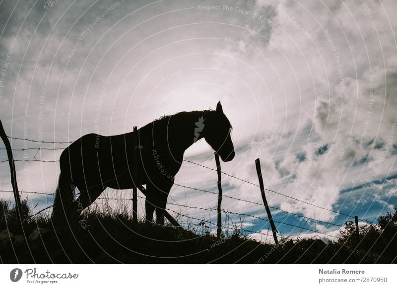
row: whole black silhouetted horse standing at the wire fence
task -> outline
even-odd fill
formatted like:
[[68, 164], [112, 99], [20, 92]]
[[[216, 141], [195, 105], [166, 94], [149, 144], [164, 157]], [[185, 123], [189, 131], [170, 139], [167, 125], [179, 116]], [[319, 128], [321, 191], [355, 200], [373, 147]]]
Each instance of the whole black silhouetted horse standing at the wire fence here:
[[[163, 116], [137, 130], [137, 161], [133, 163], [133, 132], [116, 136], [87, 134], [61, 154], [58, 188], [52, 219], [70, 221], [107, 187], [132, 189], [146, 184], [146, 222], [164, 224], [164, 209], [185, 150], [199, 139], [219, 153], [224, 162], [234, 158], [232, 126], [218, 102], [216, 110], [180, 112]], [[75, 187], [80, 191], [75, 198]]]

